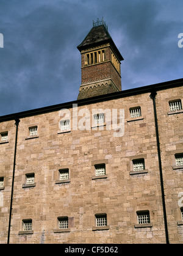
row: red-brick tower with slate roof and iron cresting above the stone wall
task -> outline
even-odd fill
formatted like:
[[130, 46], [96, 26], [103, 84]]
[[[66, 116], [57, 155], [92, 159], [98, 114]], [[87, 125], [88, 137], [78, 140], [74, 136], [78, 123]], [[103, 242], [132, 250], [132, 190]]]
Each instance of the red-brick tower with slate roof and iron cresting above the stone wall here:
[[81, 52], [81, 86], [77, 100], [121, 90], [123, 60], [104, 20], [93, 27], [77, 49]]

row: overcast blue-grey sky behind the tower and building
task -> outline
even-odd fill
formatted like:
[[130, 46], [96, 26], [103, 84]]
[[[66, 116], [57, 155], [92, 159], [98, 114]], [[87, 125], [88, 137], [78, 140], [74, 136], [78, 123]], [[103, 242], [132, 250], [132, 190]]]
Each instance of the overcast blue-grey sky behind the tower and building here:
[[182, 78], [182, 0], [1, 0], [0, 115], [77, 99], [77, 49], [104, 17], [124, 60], [122, 90]]

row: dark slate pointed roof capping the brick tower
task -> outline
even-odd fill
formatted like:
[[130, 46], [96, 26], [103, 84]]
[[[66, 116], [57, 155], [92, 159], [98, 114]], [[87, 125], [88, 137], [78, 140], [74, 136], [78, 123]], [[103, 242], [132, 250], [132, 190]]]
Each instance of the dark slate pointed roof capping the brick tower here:
[[118, 51], [117, 46], [113, 42], [112, 37], [110, 36], [109, 32], [107, 31], [104, 25], [92, 27], [90, 32], [82, 41], [82, 43], [77, 46], [77, 49], [79, 49], [79, 51], [82, 51], [84, 49], [92, 48], [98, 45], [103, 45], [104, 43], [110, 43], [118, 58], [120, 60], [123, 60], [120, 51]]

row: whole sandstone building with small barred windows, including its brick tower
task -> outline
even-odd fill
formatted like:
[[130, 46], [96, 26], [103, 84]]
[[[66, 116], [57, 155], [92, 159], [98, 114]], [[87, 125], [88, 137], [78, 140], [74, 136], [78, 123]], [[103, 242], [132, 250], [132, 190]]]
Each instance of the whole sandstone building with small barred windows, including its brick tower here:
[[76, 101], [0, 117], [1, 243], [183, 243], [183, 79], [121, 90], [106, 24]]

